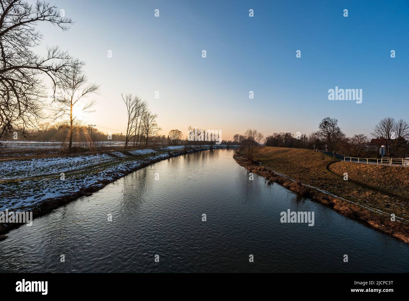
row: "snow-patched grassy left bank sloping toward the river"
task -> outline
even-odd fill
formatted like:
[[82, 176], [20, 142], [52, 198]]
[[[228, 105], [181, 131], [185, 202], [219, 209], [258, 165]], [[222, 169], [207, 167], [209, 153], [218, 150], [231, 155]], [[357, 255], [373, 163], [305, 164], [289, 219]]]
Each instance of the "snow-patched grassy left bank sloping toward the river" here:
[[[194, 146], [192, 146], [194, 147]], [[224, 148], [213, 145], [213, 148]], [[208, 149], [210, 146], [200, 146]], [[184, 146], [113, 151], [92, 155], [15, 159], [0, 162], [0, 211], [30, 207], [43, 200], [102, 185], [157, 158], [169, 157]], [[193, 151], [193, 148], [190, 151]], [[150, 155], [153, 152], [153, 155]], [[129, 155], [131, 153], [132, 155]], [[148, 157], [138, 159], [134, 155]]]

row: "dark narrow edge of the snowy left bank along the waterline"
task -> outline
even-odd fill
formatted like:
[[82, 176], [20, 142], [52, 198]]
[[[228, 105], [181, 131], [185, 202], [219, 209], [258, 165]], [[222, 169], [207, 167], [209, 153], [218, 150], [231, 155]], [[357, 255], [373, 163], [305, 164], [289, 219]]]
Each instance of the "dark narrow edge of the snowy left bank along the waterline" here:
[[[152, 165], [156, 162], [162, 161], [169, 159], [171, 157], [178, 157], [180, 155], [187, 155], [190, 153], [194, 153], [197, 151], [202, 151], [202, 150], [210, 150], [210, 149], [219, 149], [219, 148], [235, 148], [236, 146], [229, 146], [229, 145], [223, 145], [223, 146], [205, 146], [205, 147], [200, 147], [198, 146], [197, 148], [187, 148], [187, 149], [182, 149], [182, 150], [173, 150], [168, 152], [166, 155], [163, 155], [161, 157], [153, 157], [151, 159], [142, 159], [139, 160], [141, 162], [140, 165], [126, 169], [126, 170], [121, 170], [121, 173], [118, 175], [115, 175], [112, 177], [112, 179], [106, 179], [106, 180], [101, 180], [99, 181], [98, 184], [94, 184], [88, 187], [85, 187], [83, 189], [80, 189], [79, 191], [76, 191], [74, 193], [70, 193], [67, 195], [62, 195], [57, 198], [49, 198], [46, 200], [41, 201], [39, 204], [36, 204], [30, 211], [33, 212], [33, 220], [40, 216], [44, 216], [47, 213], [50, 213], [51, 211], [62, 207], [65, 204], [68, 204], [70, 202], [73, 202], [74, 200], [77, 200], [78, 198], [81, 198], [82, 196], [90, 196], [92, 193], [99, 191], [103, 189], [106, 185], [115, 182], [119, 180], [120, 178], [133, 173], [134, 171], [137, 171], [139, 169], [142, 169], [146, 166]], [[0, 224], [0, 241], [6, 239], [8, 236], [4, 235], [7, 234], [9, 231], [13, 229], [17, 229], [18, 227], [21, 227], [25, 224], [22, 223], [7, 223], [7, 224]]]

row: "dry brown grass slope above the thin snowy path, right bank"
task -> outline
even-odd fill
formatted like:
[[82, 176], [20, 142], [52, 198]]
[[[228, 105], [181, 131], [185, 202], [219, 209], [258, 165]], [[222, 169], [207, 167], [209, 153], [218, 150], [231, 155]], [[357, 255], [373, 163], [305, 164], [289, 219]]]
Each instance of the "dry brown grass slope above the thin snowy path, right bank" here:
[[[303, 183], [409, 220], [409, 168], [341, 162], [299, 148], [262, 146], [254, 158]], [[345, 172], [348, 181], [343, 179]]]

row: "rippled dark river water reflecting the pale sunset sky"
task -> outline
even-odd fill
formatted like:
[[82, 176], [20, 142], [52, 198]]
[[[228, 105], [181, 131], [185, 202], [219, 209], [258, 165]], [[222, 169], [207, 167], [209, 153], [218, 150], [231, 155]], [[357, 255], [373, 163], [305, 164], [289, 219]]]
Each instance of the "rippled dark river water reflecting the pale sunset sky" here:
[[[157, 162], [11, 231], [0, 272], [409, 272], [409, 245], [250, 181], [233, 153]], [[313, 211], [314, 226], [281, 223], [288, 209]]]

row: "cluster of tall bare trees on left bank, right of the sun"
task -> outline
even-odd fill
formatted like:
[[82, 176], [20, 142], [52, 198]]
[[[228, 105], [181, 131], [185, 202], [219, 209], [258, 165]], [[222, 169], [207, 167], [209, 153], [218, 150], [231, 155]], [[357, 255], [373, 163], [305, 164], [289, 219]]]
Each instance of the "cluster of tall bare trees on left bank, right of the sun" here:
[[[157, 137], [161, 130], [156, 122], [157, 114], [153, 114], [148, 108], [148, 103], [142, 101], [140, 97], [133, 94], [121, 94], [121, 96], [127, 112], [125, 148], [130, 143], [133, 148], [140, 147], [142, 142], [146, 146], [149, 139]], [[161, 139], [163, 139], [162, 136]]]

